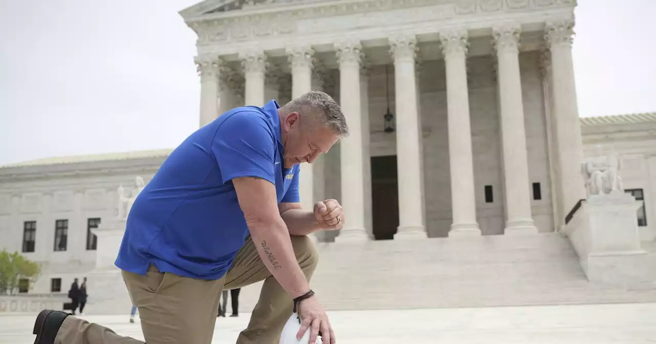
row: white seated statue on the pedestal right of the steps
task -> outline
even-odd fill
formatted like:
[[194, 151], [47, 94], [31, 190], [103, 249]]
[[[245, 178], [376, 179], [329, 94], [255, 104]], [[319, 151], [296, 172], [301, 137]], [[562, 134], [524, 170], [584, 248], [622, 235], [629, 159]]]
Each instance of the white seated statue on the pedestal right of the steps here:
[[622, 178], [619, 176], [621, 160], [615, 151], [604, 155], [600, 145], [595, 146], [595, 155], [581, 164], [588, 197], [591, 195], [617, 195], [624, 193]]

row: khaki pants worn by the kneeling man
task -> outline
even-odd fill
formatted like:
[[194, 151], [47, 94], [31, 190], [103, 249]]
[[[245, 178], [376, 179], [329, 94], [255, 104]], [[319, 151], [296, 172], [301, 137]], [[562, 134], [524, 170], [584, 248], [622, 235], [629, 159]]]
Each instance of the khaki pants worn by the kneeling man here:
[[[308, 280], [318, 263], [318, 252], [308, 237], [291, 237], [294, 252]], [[133, 305], [139, 309], [141, 327], [148, 344], [209, 344], [216, 322], [221, 291], [242, 288], [264, 280], [260, 299], [237, 344], [277, 344], [291, 316], [293, 301], [272, 277], [250, 238], [230, 270], [219, 280], [199, 280], [161, 273], [154, 265], [146, 275], [123, 271]], [[67, 316], [57, 333], [56, 344], [143, 343], [122, 337], [109, 328]]]

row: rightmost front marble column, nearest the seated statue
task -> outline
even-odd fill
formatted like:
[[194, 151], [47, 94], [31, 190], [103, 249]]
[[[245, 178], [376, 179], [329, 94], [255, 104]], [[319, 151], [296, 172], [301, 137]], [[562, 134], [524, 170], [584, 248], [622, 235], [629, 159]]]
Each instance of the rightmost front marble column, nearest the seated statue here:
[[562, 188], [562, 216], [586, 198], [581, 176], [583, 141], [572, 64], [573, 21], [549, 22], [544, 39], [551, 50], [552, 102]]

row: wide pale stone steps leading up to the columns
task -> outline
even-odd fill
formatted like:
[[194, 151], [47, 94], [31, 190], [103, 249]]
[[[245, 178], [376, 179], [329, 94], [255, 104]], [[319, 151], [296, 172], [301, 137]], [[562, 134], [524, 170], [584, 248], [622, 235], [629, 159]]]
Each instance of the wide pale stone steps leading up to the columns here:
[[[312, 288], [326, 309], [411, 309], [656, 301], [656, 289], [588, 282], [569, 240], [531, 236], [319, 243]], [[261, 284], [243, 288], [251, 311]]]

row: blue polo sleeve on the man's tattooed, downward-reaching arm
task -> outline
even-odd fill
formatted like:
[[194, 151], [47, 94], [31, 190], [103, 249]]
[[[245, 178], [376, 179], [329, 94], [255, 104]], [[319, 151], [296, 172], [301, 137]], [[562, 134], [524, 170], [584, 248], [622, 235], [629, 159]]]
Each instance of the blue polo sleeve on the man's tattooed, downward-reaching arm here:
[[230, 115], [220, 124], [212, 142], [224, 183], [240, 177], [257, 177], [276, 183], [276, 136], [270, 123], [255, 111]]

